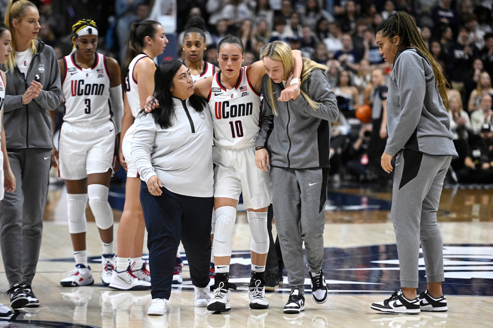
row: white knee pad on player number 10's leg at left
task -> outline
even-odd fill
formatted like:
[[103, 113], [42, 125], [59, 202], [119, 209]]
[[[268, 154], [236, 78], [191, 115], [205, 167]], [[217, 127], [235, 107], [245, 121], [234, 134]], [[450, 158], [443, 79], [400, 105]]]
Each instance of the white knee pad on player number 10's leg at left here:
[[231, 256], [231, 234], [236, 221], [236, 209], [231, 206], [223, 206], [215, 211], [216, 221], [214, 227], [214, 256]]

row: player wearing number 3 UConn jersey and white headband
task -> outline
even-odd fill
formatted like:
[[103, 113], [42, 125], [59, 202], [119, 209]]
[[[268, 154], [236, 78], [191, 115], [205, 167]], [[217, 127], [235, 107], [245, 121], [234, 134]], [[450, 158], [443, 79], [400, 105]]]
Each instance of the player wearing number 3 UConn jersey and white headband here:
[[72, 26], [72, 32], [74, 52], [59, 60], [65, 114], [58, 157], [59, 174], [67, 186], [75, 268], [60, 284], [71, 287], [94, 283], [86, 254], [85, 209], [89, 199], [103, 245], [101, 280], [109, 285], [115, 255], [108, 187], [120, 165], [114, 156], [123, 116], [120, 67], [116, 60], [96, 52], [98, 27], [94, 21], [80, 20]]

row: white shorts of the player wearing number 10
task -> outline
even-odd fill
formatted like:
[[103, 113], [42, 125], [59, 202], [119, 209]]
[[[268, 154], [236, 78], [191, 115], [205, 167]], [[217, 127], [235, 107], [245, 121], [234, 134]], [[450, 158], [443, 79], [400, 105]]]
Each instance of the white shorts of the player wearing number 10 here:
[[212, 147], [214, 162], [214, 197], [240, 199], [246, 209], [262, 209], [272, 203], [269, 172], [255, 165], [255, 148]]

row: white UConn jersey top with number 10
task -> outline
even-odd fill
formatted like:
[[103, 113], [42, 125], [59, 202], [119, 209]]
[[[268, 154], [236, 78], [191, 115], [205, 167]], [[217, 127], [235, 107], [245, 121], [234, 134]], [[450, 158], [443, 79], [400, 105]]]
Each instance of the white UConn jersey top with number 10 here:
[[226, 148], [251, 147], [260, 130], [260, 94], [255, 92], [242, 67], [235, 88], [221, 84], [220, 72], [214, 74], [207, 101], [214, 126], [214, 144]]

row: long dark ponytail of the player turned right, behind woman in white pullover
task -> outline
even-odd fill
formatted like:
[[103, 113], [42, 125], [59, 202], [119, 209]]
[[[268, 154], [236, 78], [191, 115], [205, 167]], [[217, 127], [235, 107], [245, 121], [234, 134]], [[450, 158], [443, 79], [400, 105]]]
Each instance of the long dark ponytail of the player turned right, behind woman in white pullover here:
[[146, 36], [151, 39], [156, 34], [156, 26], [161, 23], [156, 21], [142, 21], [140, 23], [132, 23], [130, 26], [130, 37], [128, 38], [127, 52], [122, 65], [121, 83], [125, 86], [125, 79], [128, 75], [128, 66], [130, 62], [142, 52], [144, 48], [144, 39]]

